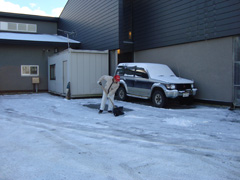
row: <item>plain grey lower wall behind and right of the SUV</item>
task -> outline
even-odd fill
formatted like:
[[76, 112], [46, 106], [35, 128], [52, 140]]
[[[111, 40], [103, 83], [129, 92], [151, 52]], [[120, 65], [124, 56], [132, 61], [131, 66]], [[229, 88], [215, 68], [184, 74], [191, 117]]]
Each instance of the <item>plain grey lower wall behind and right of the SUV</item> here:
[[232, 102], [232, 37], [139, 51], [134, 61], [167, 64], [176, 75], [193, 79], [198, 99]]

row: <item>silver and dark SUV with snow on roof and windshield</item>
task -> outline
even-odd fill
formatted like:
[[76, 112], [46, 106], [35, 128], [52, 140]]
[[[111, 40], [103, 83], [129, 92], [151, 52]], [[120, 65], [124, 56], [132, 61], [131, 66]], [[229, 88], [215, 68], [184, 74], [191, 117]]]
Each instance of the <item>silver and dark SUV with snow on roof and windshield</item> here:
[[164, 64], [121, 63], [115, 74], [121, 77], [116, 93], [120, 100], [128, 96], [151, 99], [154, 106], [164, 107], [168, 98], [190, 99], [197, 92], [192, 80], [177, 77]]

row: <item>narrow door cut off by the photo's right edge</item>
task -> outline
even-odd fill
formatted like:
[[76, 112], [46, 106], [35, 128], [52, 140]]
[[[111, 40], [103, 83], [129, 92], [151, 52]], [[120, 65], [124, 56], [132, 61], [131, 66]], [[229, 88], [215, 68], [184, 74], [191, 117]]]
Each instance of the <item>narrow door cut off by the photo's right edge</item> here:
[[240, 37], [234, 39], [234, 104], [240, 105]]

